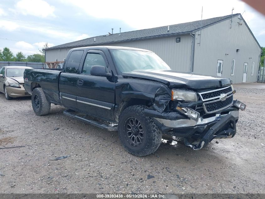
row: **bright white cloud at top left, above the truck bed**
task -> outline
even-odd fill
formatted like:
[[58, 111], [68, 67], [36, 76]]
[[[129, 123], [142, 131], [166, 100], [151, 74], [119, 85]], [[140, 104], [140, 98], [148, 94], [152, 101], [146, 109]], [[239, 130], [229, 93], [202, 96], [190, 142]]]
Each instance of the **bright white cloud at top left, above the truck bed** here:
[[33, 15], [46, 18], [49, 16], [55, 17], [55, 7], [43, 0], [20, 0], [15, 5], [16, 12], [24, 15]]

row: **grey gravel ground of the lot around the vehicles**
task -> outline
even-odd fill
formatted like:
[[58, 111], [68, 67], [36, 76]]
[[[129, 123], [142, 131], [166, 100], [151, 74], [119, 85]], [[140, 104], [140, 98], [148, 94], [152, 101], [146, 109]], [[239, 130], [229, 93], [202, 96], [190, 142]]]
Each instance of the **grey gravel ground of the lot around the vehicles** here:
[[[116, 132], [63, 115], [36, 116], [30, 98], [0, 94], [0, 193], [265, 193], [265, 89], [236, 86], [246, 102], [237, 134], [199, 151], [176, 140], [146, 157], [127, 153]], [[58, 161], [60, 156], [71, 157]]]

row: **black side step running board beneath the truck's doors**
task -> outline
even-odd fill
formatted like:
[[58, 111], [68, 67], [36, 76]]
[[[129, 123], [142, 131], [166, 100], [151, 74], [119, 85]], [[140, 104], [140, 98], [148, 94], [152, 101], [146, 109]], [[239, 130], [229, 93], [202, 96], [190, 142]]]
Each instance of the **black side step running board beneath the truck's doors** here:
[[67, 110], [65, 110], [63, 112], [63, 114], [65, 114], [65, 115], [67, 115], [67, 116], [69, 116], [71, 118], [79, 119], [82, 122], [85, 122], [85, 123], [88, 123], [88, 124], [92, 124], [92, 125], [94, 125], [96, 127], [99, 127], [101, 129], [105, 129], [105, 130], [109, 130], [109, 131], [117, 131], [118, 130], [118, 125], [117, 124], [110, 123], [110, 122], [103, 121], [103, 120], [102, 120], [102, 122], [109, 123], [110, 125], [108, 125], [108, 124], [102, 124], [102, 123], [100, 123], [98, 121], [93, 120], [88, 115], [86, 115], [84, 113], [80, 113], [78, 111], [74, 111], [74, 110], [71, 110], [71, 109], [67, 109]]

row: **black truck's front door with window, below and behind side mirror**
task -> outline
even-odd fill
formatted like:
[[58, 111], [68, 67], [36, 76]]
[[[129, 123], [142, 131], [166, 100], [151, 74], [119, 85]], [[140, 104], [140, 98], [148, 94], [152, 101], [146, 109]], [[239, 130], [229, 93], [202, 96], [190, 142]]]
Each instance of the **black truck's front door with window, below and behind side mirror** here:
[[80, 111], [104, 119], [114, 119], [114, 80], [107, 77], [90, 75], [92, 66], [109, 67], [102, 51], [89, 50], [82, 65], [81, 74], [77, 78], [79, 90], [77, 107]]

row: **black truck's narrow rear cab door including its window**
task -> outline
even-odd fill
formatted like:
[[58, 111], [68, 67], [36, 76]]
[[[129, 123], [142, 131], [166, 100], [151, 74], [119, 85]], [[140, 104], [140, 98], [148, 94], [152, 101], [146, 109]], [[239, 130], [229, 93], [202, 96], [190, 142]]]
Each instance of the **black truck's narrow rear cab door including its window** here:
[[77, 72], [83, 53], [83, 50], [76, 50], [68, 55], [59, 81], [61, 101], [64, 106], [72, 109], [77, 109]]

